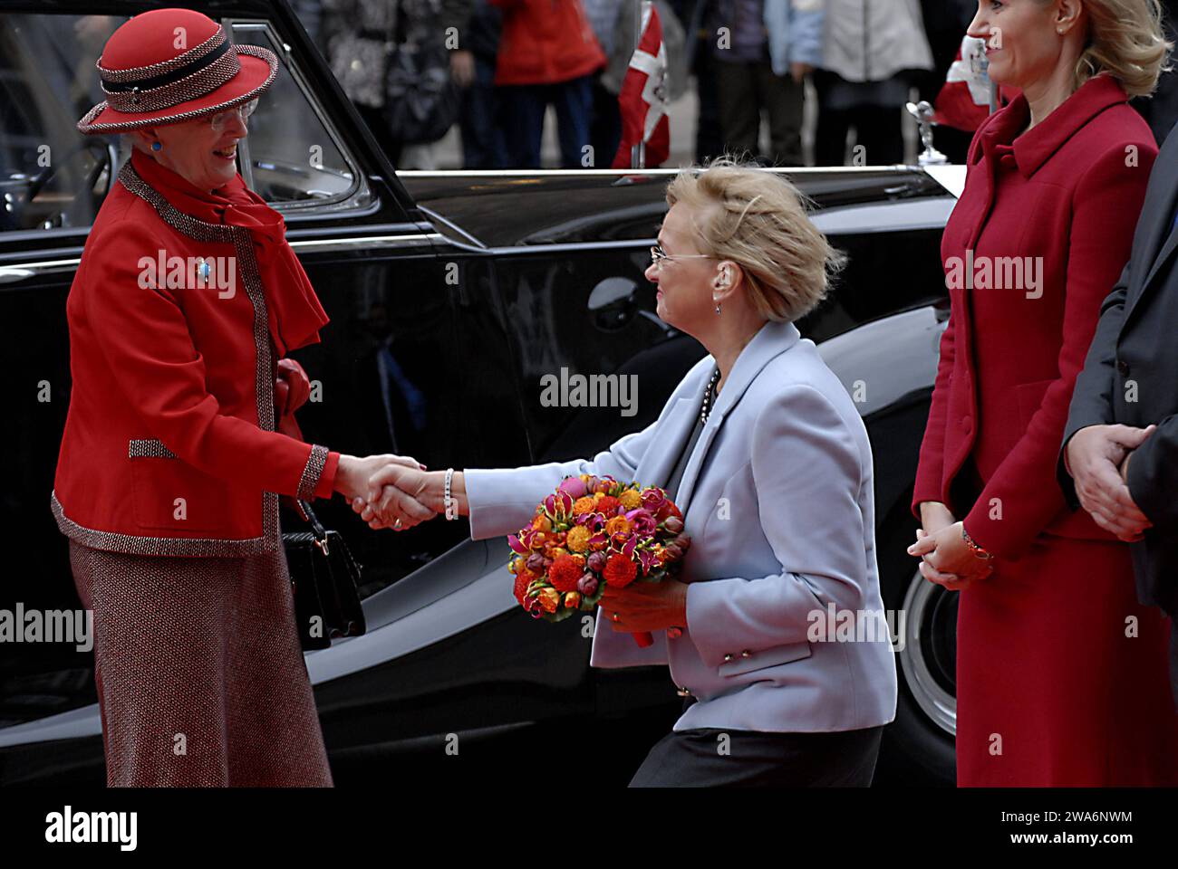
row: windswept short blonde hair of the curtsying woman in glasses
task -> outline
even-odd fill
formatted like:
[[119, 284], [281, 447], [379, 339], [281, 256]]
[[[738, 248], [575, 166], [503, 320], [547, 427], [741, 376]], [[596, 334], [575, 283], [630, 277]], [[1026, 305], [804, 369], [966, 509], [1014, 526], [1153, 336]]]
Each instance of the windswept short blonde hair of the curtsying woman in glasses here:
[[774, 172], [721, 157], [688, 166], [667, 187], [667, 205], [688, 205], [702, 253], [744, 272], [748, 299], [769, 320], [796, 320], [818, 305], [846, 257], [806, 215], [802, 195]]

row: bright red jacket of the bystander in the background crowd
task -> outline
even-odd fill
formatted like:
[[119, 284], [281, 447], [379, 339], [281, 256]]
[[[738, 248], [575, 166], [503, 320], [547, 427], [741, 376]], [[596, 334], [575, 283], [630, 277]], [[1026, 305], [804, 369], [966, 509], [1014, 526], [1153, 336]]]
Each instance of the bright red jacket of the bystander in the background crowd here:
[[496, 85], [551, 85], [605, 66], [581, 0], [491, 0], [503, 7]]

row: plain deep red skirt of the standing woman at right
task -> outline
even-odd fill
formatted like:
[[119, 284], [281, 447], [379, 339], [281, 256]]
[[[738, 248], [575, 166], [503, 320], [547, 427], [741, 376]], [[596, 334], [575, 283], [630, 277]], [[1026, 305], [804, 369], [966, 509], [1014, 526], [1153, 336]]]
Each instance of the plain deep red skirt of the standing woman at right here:
[[959, 787], [1178, 784], [1170, 619], [1129, 546], [1040, 535], [961, 592]]

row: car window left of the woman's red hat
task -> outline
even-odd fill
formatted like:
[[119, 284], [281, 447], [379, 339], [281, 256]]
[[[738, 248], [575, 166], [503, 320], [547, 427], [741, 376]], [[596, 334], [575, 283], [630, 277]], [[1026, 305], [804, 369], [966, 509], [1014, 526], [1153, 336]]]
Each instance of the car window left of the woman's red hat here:
[[117, 15], [0, 14], [0, 231], [90, 226], [119, 159], [82, 135]]

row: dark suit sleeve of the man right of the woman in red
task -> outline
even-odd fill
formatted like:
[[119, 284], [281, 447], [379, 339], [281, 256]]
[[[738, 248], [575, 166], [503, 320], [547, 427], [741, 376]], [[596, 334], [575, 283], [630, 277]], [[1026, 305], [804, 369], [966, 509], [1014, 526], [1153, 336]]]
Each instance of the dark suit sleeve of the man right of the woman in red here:
[[1090, 425], [1110, 425], [1116, 422], [1113, 416], [1112, 391], [1117, 383], [1117, 336], [1125, 321], [1125, 296], [1129, 291], [1130, 264], [1125, 264], [1120, 279], [1100, 306], [1100, 319], [1097, 333], [1088, 346], [1084, 359], [1084, 370], [1076, 379], [1076, 391], [1067, 411], [1067, 425], [1064, 427], [1064, 442], [1059, 447], [1059, 462], [1055, 469], [1064, 497], [1071, 506], [1078, 508], [1080, 502], [1076, 496], [1076, 482], [1067, 472], [1064, 451], [1067, 442], [1080, 429]]

